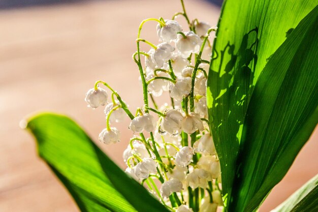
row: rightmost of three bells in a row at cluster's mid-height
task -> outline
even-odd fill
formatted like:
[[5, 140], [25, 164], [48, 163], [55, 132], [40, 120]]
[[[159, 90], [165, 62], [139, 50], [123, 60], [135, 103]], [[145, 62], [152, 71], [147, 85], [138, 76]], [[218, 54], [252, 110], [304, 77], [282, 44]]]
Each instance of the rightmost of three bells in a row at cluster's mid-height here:
[[197, 130], [204, 130], [200, 115], [195, 112], [190, 112], [181, 122], [181, 129], [187, 134], [192, 134]]

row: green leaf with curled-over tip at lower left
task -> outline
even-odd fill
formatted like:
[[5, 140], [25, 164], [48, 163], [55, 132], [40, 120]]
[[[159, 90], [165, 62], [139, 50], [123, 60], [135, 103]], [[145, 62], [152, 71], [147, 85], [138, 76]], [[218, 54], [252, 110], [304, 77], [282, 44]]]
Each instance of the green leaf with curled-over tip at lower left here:
[[31, 118], [27, 129], [37, 139], [40, 157], [81, 211], [169, 211], [116, 166], [70, 118], [43, 113]]

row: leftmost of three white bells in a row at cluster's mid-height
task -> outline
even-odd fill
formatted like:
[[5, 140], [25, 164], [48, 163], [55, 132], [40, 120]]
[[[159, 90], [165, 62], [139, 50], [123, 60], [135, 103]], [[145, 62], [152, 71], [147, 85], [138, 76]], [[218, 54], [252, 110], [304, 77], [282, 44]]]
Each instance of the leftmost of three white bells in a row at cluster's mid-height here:
[[155, 118], [151, 114], [145, 113], [143, 115], [136, 116], [131, 121], [129, 129], [138, 133], [141, 133], [143, 130], [152, 132], [155, 130], [156, 124]]

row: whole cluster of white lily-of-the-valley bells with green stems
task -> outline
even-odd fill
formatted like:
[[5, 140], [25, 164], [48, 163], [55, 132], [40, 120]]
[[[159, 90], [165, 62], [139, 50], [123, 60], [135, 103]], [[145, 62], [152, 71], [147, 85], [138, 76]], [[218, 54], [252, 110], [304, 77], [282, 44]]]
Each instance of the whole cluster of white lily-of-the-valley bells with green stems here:
[[[184, 32], [174, 20], [177, 15], [185, 17], [189, 31]], [[157, 45], [140, 38], [142, 26], [148, 21], [157, 22]], [[110, 125], [122, 122], [126, 115], [131, 118], [129, 129], [135, 135], [123, 152], [125, 172], [172, 211], [213, 212], [223, 205], [220, 164], [206, 104], [212, 52], [209, 34], [215, 30], [206, 22], [189, 21], [184, 9], [172, 20], [142, 21], [133, 59], [141, 74], [144, 103], [136, 115], [106, 82], [96, 82], [85, 98], [91, 108], [106, 105], [106, 128], [99, 135], [105, 144], [120, 140], [119, 131]], [[149, 44], [150, 50], [141, 51], [140, 42]], [[107, 103], [108, 94], [99, 84], [111, 90], [111, 103]], [[165, 92], [170, 94], [169, 104], [159, 107], [154, 97]]]

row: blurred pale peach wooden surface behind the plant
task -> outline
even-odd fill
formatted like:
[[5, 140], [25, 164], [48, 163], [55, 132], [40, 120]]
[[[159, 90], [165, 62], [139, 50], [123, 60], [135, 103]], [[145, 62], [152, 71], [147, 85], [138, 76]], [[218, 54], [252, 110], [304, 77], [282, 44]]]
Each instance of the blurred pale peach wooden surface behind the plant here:
[[[190, 17], [216, 24], [218, 8], [194, 0], [186, 1], [186, 7]], [[178, 1], [148, 0], [0, 11], [1, 212], [79, 211], [19, 122], [34, 111], [65, 113], [97, 140], [105, 117], [102, 108], [86, 107], [87, 89], [106, 80], [132, 108], [141, 106], [139, 73], [131, 59], [139, 23], [170, 18], [180, 9]], [[154, 23], [146, 25], [142, 37], [157, 42]], [[102, 147], [122, 167], [121, 154], [132, 135], [128, 124], [118, 125], [119, 144]], [[260, 211], [269, 211], [316, 174], [317, 140], [316, 133]]]

